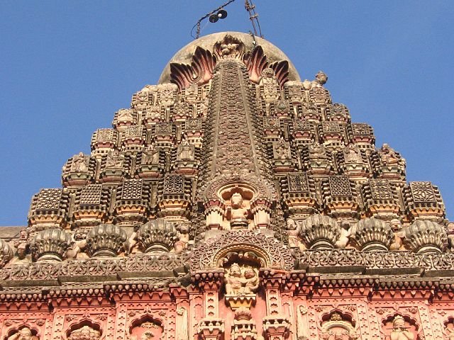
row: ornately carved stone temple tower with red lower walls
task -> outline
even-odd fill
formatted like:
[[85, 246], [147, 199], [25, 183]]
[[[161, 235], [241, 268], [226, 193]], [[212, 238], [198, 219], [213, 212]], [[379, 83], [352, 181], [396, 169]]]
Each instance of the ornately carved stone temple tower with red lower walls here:
[[0, 340], [453, 340], [441, 194], [327, 80], [244, 33], [177, 52], [0, 231]]

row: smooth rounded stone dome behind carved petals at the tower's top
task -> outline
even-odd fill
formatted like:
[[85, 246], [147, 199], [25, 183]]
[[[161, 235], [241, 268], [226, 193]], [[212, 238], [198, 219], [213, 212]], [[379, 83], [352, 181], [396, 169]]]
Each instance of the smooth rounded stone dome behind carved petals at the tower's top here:
[[226, 35], [231, 35], [233, 38], [238, 38], [241, 40], [245, 45], [245, 51], [250, 52], [254, 49], [254, 40], [257, 42], [256, 45], [262, 46], [263, 52], [267, 56], [270, 62], [276, 62], [279, 60], [287, 60], [289, 62], [289, 80], [290, 81], [301, 81], [299, 78], [299, 74], [297, 69], [295, 69], [294, 64], [289, 60], [289, 57], [284, 54], [279, 48], [273, 45], [271, 42], [258, 38], [256, 36], [252, 36], [248, 33], [241, 33], [241, 32], [219, 32], [213, 33], [209, 35], [205, 35], [199, 39], [193, 40], [189, 42], [186, 46], [184, 46], [181, 50], [179, 50], [172, 59], [167, 63], [162, 71], [161, 77], [158, 81], [158, 84], [170, 83], [170, 64], [171, 63], [178, 63], [178, 64], [191, 64], [192, 56], [196, 50], [196, 47], [202, 47], [205, 50], [209, 50], [210, 52], [213, 51], [214, 44], [222, 40]]

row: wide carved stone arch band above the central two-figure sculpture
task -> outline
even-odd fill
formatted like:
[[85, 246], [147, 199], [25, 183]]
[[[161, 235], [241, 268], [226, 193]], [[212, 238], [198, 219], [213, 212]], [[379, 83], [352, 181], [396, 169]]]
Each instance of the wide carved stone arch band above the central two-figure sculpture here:
[[265, 234], [238, 230], [226, 232], [194, 249], [191, 257], [191, 270], [199, 271], [218, 268], [219, 261], [228, 253], [242, 251], [255, 254], [260, 266], [290, 271], [294, 268], [292, 254], [277, 239]]

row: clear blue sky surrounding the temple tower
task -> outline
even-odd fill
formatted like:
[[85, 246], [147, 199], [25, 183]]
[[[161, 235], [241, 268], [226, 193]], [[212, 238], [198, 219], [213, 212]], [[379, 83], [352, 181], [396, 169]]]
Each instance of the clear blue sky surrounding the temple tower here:
[[[0, 225], [26, 225], [31, 196], [61, 186], [92, 132], [156, 84], [194, 23], [223, 1], [0, 1]], [[262, 33], [301, 79], [322, 69], [334, 102], [432, 181], [454, 219], [454, 1], [255, 0]], [[248, 32], [243, 0], [202, 34]]]

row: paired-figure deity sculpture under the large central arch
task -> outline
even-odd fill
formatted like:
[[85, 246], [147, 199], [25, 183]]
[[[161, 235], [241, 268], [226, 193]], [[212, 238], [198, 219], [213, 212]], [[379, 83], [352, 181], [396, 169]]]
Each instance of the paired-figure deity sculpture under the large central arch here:
[[253, 266], [240, 266], [234, 262], [226, 269], [226, 301], [236, 310], [240, 307], [250, 308], [255, 302], [255, 293], [259, 288], [258, 272]]

